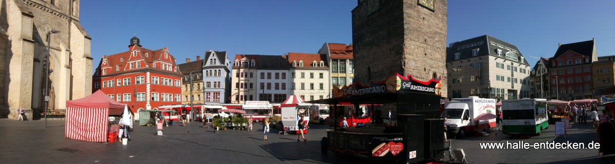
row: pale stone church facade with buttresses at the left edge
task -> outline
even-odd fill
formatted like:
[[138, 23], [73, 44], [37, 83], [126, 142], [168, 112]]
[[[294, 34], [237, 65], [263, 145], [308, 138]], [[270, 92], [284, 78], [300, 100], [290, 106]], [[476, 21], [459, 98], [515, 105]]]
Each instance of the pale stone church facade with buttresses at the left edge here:
[[48, 46], [49, 109], [65, 111], [66, 100], [92, 94], [90, 40], [79, 0], [1, 0], [0, 117], [16, 119], [20, 107], [27, 119], [40, 117]]

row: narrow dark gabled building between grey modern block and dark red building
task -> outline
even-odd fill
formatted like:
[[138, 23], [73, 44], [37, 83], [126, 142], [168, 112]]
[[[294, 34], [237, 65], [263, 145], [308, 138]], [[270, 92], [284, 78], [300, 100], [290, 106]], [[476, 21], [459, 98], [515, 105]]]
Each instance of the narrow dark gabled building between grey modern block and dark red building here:
[[549, 99], [549, 59], [540, 58], [531, 70], [530, 98]]

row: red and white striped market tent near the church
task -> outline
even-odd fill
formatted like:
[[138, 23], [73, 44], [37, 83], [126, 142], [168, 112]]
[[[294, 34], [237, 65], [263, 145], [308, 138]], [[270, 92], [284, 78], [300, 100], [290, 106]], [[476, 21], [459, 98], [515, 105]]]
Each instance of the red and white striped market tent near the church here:
[[81, 99], [66, 101], [66, 138], [106, 142], [109, 116], [121, 115], [125, 106], [111, 100], [101, 90]]

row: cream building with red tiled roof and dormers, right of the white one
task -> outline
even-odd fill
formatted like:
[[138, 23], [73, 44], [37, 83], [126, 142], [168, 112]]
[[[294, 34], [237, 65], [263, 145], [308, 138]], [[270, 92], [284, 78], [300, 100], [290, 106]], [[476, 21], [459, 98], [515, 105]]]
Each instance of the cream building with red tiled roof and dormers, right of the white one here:
[[[331, 76], [327, 55], [288, 53], [288, 64], [290, 65], [288, 70], [290, 72], [290, 81], [288, 82], [290, 94], [299, 95], [306, 101], [330, 98], [331, 85], [328, 83]], [[345, 76], [346, 74], [344, 74]]]

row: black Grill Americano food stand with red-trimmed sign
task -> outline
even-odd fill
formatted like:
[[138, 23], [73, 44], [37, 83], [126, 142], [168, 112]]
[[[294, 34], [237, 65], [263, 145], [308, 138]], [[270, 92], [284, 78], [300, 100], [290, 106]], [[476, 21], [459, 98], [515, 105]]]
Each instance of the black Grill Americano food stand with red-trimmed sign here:
[[[362, 127], [342, 129], [333, 124], [335, 127], [327, 130], [329, 151], [367, 160], [418, 163], [443, 158], [443, 153], [438, 152], [444, 147], [441, 93], [438, 80], [419, 81], [396, 73], [386, 81], [334, 88], [332, 98], [310, 103], [332, 105], [329, 117], [334, 120], [346, 114], [337, 110], [340, 103], [351, 103], [355, 108], [373, 107], [368, 115], [375, 121], [365, 122]], [[388, 110], [395, 113], [397, 124], [377, 121]]]

